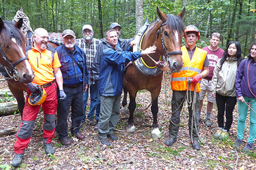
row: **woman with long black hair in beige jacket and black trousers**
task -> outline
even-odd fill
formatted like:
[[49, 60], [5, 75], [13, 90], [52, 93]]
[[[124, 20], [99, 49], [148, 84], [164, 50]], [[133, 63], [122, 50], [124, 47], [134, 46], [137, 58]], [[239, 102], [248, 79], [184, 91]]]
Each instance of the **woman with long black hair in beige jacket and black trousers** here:
[[[231, 41], [218, 60], [212, 77], [212, 95], [218, 107], [218, 131], [214, 137], [227, 139], [233, 122], [233, 109], [236, 105], [236, 71], [242, 61], [242, 50], [238, 41]], [[224, 124], [224, 115], [226, 122]]]

